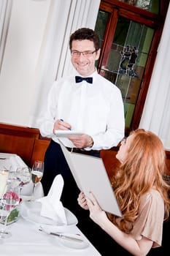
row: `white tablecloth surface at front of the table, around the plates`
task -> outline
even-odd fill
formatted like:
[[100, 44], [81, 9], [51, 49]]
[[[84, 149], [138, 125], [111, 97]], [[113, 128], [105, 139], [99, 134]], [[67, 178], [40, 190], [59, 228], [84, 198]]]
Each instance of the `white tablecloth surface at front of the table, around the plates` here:
[[42, 233], [39, 231], [39, 225], [28, 222], [22, 217], [19, 217], [17, 222], [7, 226], [7, 230], [12, 233], [12, 236], [4, 241], [0, 239], [1, 256], [100, 255], [76, 225], [58, 227], [58, 232], [80, 233], [82, 238], [88, 241], [88, 246], [84, 249], [63, 246], [61, 238]]

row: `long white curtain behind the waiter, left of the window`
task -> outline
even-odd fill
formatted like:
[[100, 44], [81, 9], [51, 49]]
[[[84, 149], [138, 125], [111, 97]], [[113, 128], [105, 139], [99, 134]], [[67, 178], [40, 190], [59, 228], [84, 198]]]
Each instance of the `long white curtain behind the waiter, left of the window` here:
[[35, 72], [35, 104], [31, 108], [30, 127], [42, 110], [53, 81], [73, 71], [70, 63], [69, 37], [81, 27], [94, 29], [100, 0], [51, 1], [45, 37]]

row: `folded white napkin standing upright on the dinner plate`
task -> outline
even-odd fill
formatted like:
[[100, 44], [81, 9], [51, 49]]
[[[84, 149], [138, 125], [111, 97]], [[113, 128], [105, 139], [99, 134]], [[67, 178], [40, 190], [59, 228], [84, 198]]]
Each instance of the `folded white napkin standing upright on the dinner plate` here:
[[61, 174], [55, 176], [50, 191], [46, 197], [39, 198], [36, 202], [42, 203], [40, 214], [55, 220], [58, 224], [67, 225], [66, 213], [61, 203], [61, 193], [63, 191], [63, 177]]

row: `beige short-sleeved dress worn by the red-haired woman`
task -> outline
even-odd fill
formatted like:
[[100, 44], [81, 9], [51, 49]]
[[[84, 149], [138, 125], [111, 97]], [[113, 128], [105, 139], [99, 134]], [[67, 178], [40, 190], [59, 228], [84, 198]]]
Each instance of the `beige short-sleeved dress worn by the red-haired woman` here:
[[164, 203], [160, 193], [152, 189], [141, 198], [139, 217], [134, 222], [131, 236], [141, 240], [142, 236], [153, 241], [152, 247], [161, 246], [163, 233]]

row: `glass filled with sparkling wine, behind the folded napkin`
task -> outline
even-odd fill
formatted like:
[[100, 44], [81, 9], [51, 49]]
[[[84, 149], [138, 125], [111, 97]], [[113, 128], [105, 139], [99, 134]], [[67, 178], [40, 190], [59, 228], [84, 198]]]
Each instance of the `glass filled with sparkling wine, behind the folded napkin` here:
[[33, 196], [36, 184], [42, 180], [44, 173], [44, 162], [36, 160], [31, 170], [31, 180], [33, 182]]

